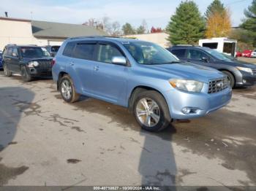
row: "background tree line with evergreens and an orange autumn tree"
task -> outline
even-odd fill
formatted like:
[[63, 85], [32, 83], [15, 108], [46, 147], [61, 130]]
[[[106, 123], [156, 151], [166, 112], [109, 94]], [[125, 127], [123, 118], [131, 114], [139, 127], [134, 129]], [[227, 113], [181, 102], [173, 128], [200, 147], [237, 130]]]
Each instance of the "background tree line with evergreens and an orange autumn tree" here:
[[245, 19], [237, 29], [231, 28], [230, 10], [220, 0], [213, 0], [204, 15], [201, 15], [197, 4], [192, 0], [181, 1], [170, 22], [163, 30], [152, 27], [148, 31], [146, 20], [138, 28], [130, 23], [123, 26], [110, 18], [102, 20], [89, 19], [83, 25], [94, 26], [106, 31], [111, 36], [129, 34], [146, 34], [165, 31], [169, 34], [171, 44], [197, 44], [199, 39], [212, 37], [230, 37], [238, 40], [238, 47], [246, 49], [256, 47], [256, 0], [244, 10]]

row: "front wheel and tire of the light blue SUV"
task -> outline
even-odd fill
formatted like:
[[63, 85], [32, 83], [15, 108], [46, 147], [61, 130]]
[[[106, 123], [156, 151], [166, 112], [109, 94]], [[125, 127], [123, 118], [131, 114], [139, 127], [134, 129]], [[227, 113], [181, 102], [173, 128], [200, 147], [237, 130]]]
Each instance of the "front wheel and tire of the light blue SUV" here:
[[133, 113], [141, 128], [151, 132], [163, 130], [171, 121], [165, 98], [154, 90], [138, 94], [133, 104]]

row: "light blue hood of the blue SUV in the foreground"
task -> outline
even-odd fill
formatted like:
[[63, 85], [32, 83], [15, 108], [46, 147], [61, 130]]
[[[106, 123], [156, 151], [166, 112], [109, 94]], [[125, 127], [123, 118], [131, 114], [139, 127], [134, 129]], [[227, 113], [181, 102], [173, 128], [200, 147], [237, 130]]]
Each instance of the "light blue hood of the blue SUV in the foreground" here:
[[221, 71], [192, 63], [172, 63], [147, 66], [154, 69], [154, 72], [162, 73], [166, 77], [179, 79], [195, 79], [208, 83], [209, 79], [224, 77]]

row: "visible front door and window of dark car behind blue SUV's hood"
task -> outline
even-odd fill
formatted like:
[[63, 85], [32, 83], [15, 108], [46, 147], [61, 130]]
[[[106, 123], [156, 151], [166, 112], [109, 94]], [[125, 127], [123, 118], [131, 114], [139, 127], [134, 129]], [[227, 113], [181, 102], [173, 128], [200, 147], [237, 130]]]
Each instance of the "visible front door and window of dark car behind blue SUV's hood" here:
[[196, 63], [202, 66], [210, 66], [213, 59], [211, 56], [203, 52], [202, 50], [197, 49], [188, 49], [187, 50], [187, 62]]

